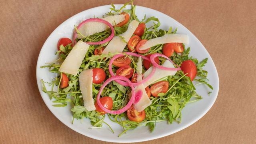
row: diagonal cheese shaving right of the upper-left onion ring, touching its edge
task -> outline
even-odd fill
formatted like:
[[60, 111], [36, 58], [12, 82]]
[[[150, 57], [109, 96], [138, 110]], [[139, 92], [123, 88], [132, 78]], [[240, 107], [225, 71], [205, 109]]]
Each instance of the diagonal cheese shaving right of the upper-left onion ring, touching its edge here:
[[[132, 20], [126, 32], [119, 34], [119, 36], [114, 36], [114, 38], [109, 42], [108, 46], [106, 46], [106, 48], [103, 50], [102, 54], [108, 54], [109, 52], [111, 53], [123, 52], [126, 46], [126, 42], [130, 40], [130, 38], [132, 37], [132, 34], [134, 33], [138, 25], [139, 25], [139, 22], [137, 22], [136, 20]], [[121, 37], [123, 37], [124, 40]]]

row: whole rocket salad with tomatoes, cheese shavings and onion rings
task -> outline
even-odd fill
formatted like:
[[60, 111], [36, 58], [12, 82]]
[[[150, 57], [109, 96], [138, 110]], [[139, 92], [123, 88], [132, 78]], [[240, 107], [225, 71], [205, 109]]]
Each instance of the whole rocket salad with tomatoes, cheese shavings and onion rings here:
[[51, 82], [41, 80], [43, 92], [53, 106], [72, 104], [72, 123], [88, 118], [91, 128], [106, 124], [114, 133], [104, 122], [108, 117], [123, 128], [119, 136], [138, 126], [153, 131], [156, 122], [181, 122], [184, 106], [202, 99], [198, 84], [213, 90], [202, 68], [207, 58], [188, 56], [188, 35], [159, 29], [154, 16], [139, 20], [135, 10], [132, 0], [118, 10], [112, 4], [103, 18], [84, 20], [74, 26], [72, 40], [58, 41], [59, 58], [41, 66], [56, 73]]

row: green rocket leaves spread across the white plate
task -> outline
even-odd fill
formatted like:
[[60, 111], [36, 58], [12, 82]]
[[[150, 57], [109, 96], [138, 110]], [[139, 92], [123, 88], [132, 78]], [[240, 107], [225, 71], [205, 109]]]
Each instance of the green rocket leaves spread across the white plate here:
[[[132, 4], [133, 0], [129, 3], [126, 3], [121, 9], [116, 10], [115, 6], [112, 4], [112, 8], [110, 8], [110, 12], [107, 13], [107, 15], [114, 15], [114, 14], [120, 14], [122, 12], [122, 9], [125, 8], [127, 4]], [[145, 28], [144, 34], [141, 36], [142, 39], [150, 40], [152, 38], [157, 38], [160, 36], [163, 36], [164, 34], [175, 34], [177, 32], [177, 28], [175, 30], [172, 30], [172, 27], [169, 28], [169, 30], [162, 30], [159, 29], [160, 22], [158, 18], [150, 17], [146, 19], [146, 15], [144, 16], [144, 19], [142, 21], [138, 20], [137, 16], [135, 15], [135, 9], [136, 6], [132, 4], [132, 9], [130, 10], [124, 10], [124, 12], [130, 14], [130, 20], [127, 24], [121, 27], [115, 27], [114, 32], [115, 36], [122, 34], [125, 32], [128, 28], [128, 24], [132, 20], [137, 20], [138, 22], [144, 22], [148, 23], [150, 21], [153, 21], [153, 25], [149, 28]], [[110, 36], [111, 31], [105, 30], [103, 32], [93, 34], [91, 36], [87, 36], [85, 38], [82, 38], [84, 42], [98, 42], [102, 41], [105, 38], [108, 38]], [[80, 40], [79, 38], [76, 39], [76, 41]], [[83, 98], [82, 94], [79, 88], [79, 74], [83, 70], [87, 70], [90, 68], [102, 68], [105, 73], [106, 77], [110, 77], [110, 73], [108, 71], [108, 64], [110, 62], [110, 58], [114, 56], [115, 54], [102, 54], [102, 55], [94, 55], [94, 49], [99, 49], [103, 46], [106, 46], [106, 44], [101, 45], [90, 45], [88, 52], [86, 53], [86, 56], [79, 68], [78, 74], [76, 76], [71, 74], [66, 74], [69, 78], [68, 86], [66, 88], [60, 88], [60, 79], [62, 76], [62, 73], [59, 72], [60, 64], [58, 62], [63, 61], [66, 56], [69, 54], [69, 52], [72, 50], [71, 44], [67, 46], [60, 46], [60, 51], [56, 52], [56, 54], [60, 54], [61, 52], [64, 52], [65, 54], [61, 53], [60, 58], [58, 60], [55, 60], [54, 62], [48, 63], [46, 66], [41, 66], [41, 68], [49, 68], [50, 72], [58, 73], [59, 76], [52, 79], [50, 83], [44, 82], [41, 80], [43, 84], [43, 92], [47, 93], [49, 98], [52, 100], [54, 98], [54, 104], [53, 106], [66, 106], [67, 102], [72, 103], [74, 106], [71, 109], [73, 112], [73, 121], [74, 118], [81, 119], [83, 118], [89, 118], [92, 124], [92, 128], [101, 128], [102, 124], [106, 124], [104, 122], [104, 118], [106, 115], [100, 115], [96, 111], [88, 112], [84, 106], [83, 106]], [[183, 45], [184, 46], [184, 45]], [[156, 46], [153, 46], [150, 48], [150, 50], [144, 54], [153, 54], [153, 53], [162, 53], [163, 44], [158, 44]], [[128, 52], [128, 47], [124, 49], [124, 52]], [[185, 48], [184, 46], [184, 52], [181, 53], [181, 55], [174, 52], [172, 56], [170, 57], [171, 60], [173, 60], [177, 65], [181, 65], [183, 61], [185, 60], [192, 60], [197, 67], [197, 78], [194, 79], [198, 81], [198, 84], [206, 84], [209, 86], [209, 88], [212, 88], [210, 84], [207, 83], [208, 79], [207, 71], [203, 70], [203, 66], [207, 62], [207, 58], [202, 60], [202, 62], [198, 62], [196, 58], [188, 57], [190, 48]], [[130, 66], [136, 70], [136, 62], [138, 60], [137, 57], [134, 56], [128, 56], [132, 63]], [[159, 58], [160, 64], [163, 64], [165, 61], [165, 58]], [[116, 66], [112, 66], [112, 69], [114, 72], [118, 69]], [[146, 71], [145, 68], [143, 68], [142, 72], [144, 73]], [[168, 124], [172, 124], [172, 122], [181, 122], [182, 114], [181, 111], [185, 107], [187, 103], [195, 102], [197, 100], [202, 99], [202, 96], [199, 96], [196, 94], [195, 86], [198, 84], [193, 85], [190, 78], [186, 76], [181, 70], [177, 71], [174, 76], [168, 76], [163, 78], [164, 80], [169, 82], [169, 89], [168, 91], [164, 93], [158, 94], [159, 97], [153, 97], [151, 96], [150, 100], [152, 101], [152, 104], [148, 106], [145, 109], [146, 117], [142, 122], [134, 122], [130, 121], [127, 118], [126, 112], [122, 114], [108, 114], [108, 117], [113, 122], [116, 122], [120, 126], [123, 127], [123, 132], [119, 135], [121, 136], [124, 134], [127, 130], [132, 130], [138, 126], [149, 126], [151, 132], [155, 128], [156, 122], [162, 122], [166, 121]], [[51, 90], [47, 90], [45, 84], [49, 84], [51, 86]], [[98, 90], [100, 89], [102, 84], [93, 84], [93, 98], [96, 101], [96, 96], [98, 94]], [[56, 90], [57, 89], [57, 90]], [[55, 90], [55, 91], [54, 91]], [[101, 96], [110, 96], [113, 100], [113, 108], [112, 110], [119, 110], [120, 108], [124, 107], [128, 102], [128, 94], [131, 92], [130, 87], [122, 86], [116, 82], [110, 82], [103, 90]], [[210, 92], [209, 92], [210, 94]], [[72, 121], [72, 123], [73, 123]], [[108, 125], [108, 124], [107, 124]], [[109, 125], [108, 125], [109, 126]], [[110, 127], [110, 126], [109, 126]], [[112, 128], [110, 127], [112, 130]], [[114, 133], [114, 131], [112, 130]]]

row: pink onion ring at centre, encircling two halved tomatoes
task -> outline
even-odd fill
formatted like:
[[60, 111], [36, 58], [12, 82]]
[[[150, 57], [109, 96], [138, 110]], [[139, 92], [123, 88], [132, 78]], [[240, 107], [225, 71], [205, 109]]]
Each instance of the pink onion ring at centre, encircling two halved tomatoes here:
[[[135, 54], [135, 53], [133, 53], [133, 52], [124, 52], [124, 53], [127, 54], [127, 55], [130, 55], [130, 56], [141, 57], [141, 58], [143, 58], [143, 59], [145, 59], [145, 60], [148, 60], [148, 61], [150, 62], [150, 59], [147, 58], [146, 56], [142, 56], [142, 55], [140, 55], [140, 54]], [[111, 60], [110, 60], [110, 62], [109, 62], [109, 65], [108, 65], [108, 70], [109, 70], [109, 73], [110, 73], [111, 76], [115, 76], [115, 75], [114, 75], [114, 72], [113, 72], [113, 70], [112, 70], [112, 63], [114, 62], [114, 60], [115, 60], [116, 58], [119, 58], [119, 57], [121, 57], [121, 56], [124, 56], [124, 54], [117, 54], [117, 55], [113, 56], [113, 58], [111, 58]], [[142, 80], [142, 81], [140, 81], [140, 82], [132, 83], [132, 86], [138, 86], [138, 85], [140, 85], [140, 84], [143, 84], [144, 82], [146, 82], [147, 80], [149, 80], [149, 79], [153, 76], [153, 74], [154, 74], [155, 72], [156, 72], [156, 67], [153, 66], [153, 71], [151, 72], [151, 74], [150, 74], [148, 77], [146, 77], [144, 80]], [[122, 81], [122, 80], [115, 80], [115, 82], [117, 82], [118, 84], [121, 84], [122, 86], [129, 86], [129, 84], [128, 84], [127, 82], [124, 82], [124, 81]]]

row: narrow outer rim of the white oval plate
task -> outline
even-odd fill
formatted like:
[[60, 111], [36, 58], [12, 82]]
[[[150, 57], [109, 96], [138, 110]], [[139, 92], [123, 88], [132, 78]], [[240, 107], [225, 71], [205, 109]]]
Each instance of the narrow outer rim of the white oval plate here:
[[[114, 6], [123, 6], [123, 5], [124, 5], [124, 4], [114, 4]], [[85, 11], [88, 11], [88, 10], [91, 10], [91, 9], [94, 9], [94, 8], [100, 8], [100, 7], [106, 7], [106, 6], [110, 7], [111, 5], [109, 4], [109, 5], [103, 5], [103, 6], [93, 7], [93, 8], [90, 8], [90, 9], [87, 9], [87, 10], [84, 10], [84, 11], [81, 11], [81, 12], [79, 12], [79, 13], [77, 13], [77, 14], [71, 16], [70, 18], [68, 18], [67, 20], [65, 20], [64, 22], [62, 22], [59, 26], [57, 26], [57, 27], [52, 31], [52, 33], [48, 36], [48, 38], [47, 38], [46, 41], [44, 42], [42, 48], [45, 46], [45, 44], [46, 44], [46, 42], [49, 40], [50, 36], [51, 36], [62, 24], [64, 24], [64, 23], [65, 23], [66, 21], [68, 21], [69, 19], [71, 19], [71, 18], [73, 18], [73, 17], [79, 15], [79, 14], [82, 13], [82, 12], [85, 12]], [[127, 6], [130, 6], [130, 4], [128, 4]], [[148, 7], [145, 7], [145, 6], [136, 5], [136, 7], [147, 8], [147, 9], [152, 10], [152, 11], [160, 12], [160, 11], [158, 11], [158, 10], [154, 10], [154, 9], [152, 9], [152, 8], [148, 8]], [[162, 12], [160, 12], [160, 13], [161, 13], [162, 15], [164, 15], [164, 16], [168, 16], [168, 15], [162, 13]], [[180, 24], [180, 22], [178, 22], [178, 21], [175, 20], [174, 18], [172, 18], [172, 17], [170, 17], [170, 16], [168, 16], [168, 17], [171, 18], [174, 22], [176, 22], [176, 24], [178, 24], [178, 25], [180, 25], [180, 26], [183, 26], [182, 24]], [[183, 26], [183, 27], [184, 27], [188, 32], [190, 32], [190, 30], [188, 30], [185, 26]], [[200, 42], [200, 40], [198, 40], [198, 38], [197, 38], [192, 32], [190, 32], [190, 34], [192, 34], [192, 35], [196, 38], [196, 41], [199, 42], [199, 43], [204, 47], [204, 45]], [[162, 134], [162, 135], [157, 135], [157, 136], [152, 135], [150, 138], [141, 138], [140, 140], [132, 140], [132, 139], [131, 139], [130, 141], [124, 141], [124, 140], [122, 140], [122, 139], [119, 139], [119, 140], [118, 140], [118, 137], [117, 137], [116, 140], [113, 141], [113, 140], [106, 139], [106, 138], [98, 138], [98, 137], [95, 137], [95, 136], [90, 135], [90, 134], [85, 135], [85, 134], [83, 134], [82, 131], [77, 130], [76, 128], [72, 128], [71, 125], [66, 124], [66, 122], [65, 122], [64, 120], [61, 120], [61, 118], [59, 118], [59, 116], [56, 115], [55, 112], [53, 112], [53, 111], [49, 108], [47, 102], [45, 101], [45, 99], [44, 99], [43, 96], [42, 96], [42, 93], [43, 93], [43, 92], [42, 92], [42, 90], [41, 90], [41, 88], [40, 88], [40, 84], [39, 84], [40, 82], [38, 82], [38, 70], [39, 70], [39, 68], [40, 68], [40, 66], [39, 66], [39, 64], [38, 64], [38, 63], [39, 63], [38, 60], [39, 60], [39, 58], [40, 58], [40, 55], [42, 54], [42, 48], [41, 48], [41, 50], [40, 50], [40, 53], [39, 53], [38, 59], [37, 59], [37, 63], [36, 63], [36, 82], [37, 82], [38, 90], [39, 90], [39, 92], [40, 92], [40, 95], [41, 95], [41, 97], [42, 97], [44, 103], [46, 104], [46, 106], [47, 106], [47, 108], [50, 110], [50, 112], [52, 112], [52, 114], [53, 114], [58, 120], [60, 120], [60, 122], [62, 122], [64, 125], [68, 126], [68, 128], [70, 128], [70, 129], [72, 129], [72, 130], [74, 130], [74, 131], [76, 131], [76, 132], [78, 132], [78, 133], [80, 133], [80, 134], [82, 134], [82, 135], [84, 135], [84, 136], [87, 136], [87, 137], [89, 137], [89, 138], [93, 138], [93, 139], [96, 139], [96, 140], [101, 140], [101, 141], [106, 141], [106, 142], [123, 142], [123, 143], [128, 143], [128, 142], [144, 142], [144, 141], [148, 141], [148, 140], [154, 140], [154, 139], [157, 139], [157, 138], [162, 138], [162, 137], [165, 137], [165, 136], [169, 136], [169, 135], [171, 135], [171, 134], [174, 134], [174, 133], [176, 133], [176, 132], [179, 132], [179, 131], [181, 131], [181, 130], [187, 128], [188, 126], [191, 126], [192, 124], [194, 124], [195, 122], [197, 122], [198, 120], [200, 120], [200, 119], [210, 110], [210, 108], [212, 108], [213, 104], [215, 103], [215, 101], [216, 101], [216, 99], [217, 99], [217, 97], [218, 97], [219, 84], [220, 84], [219, 76], [218, 76], [218, 71], [217, 71], [216, 66], [215, 66], [215, 64], [214, 64], [214, 61], [212, 60], [212, 57], [210, 56], [210, 54], [208, 53], [208, 51], [207, 51], [206, 48], [204, 47], [204, 49], [206, 50], [206, 52], [208, 53], [210, 59], [212, 60], [212, 62], [213, 62], [213, 64], [214, 64], [214, 69], [216, 70], [216, 78], [217, 78], [218, 83], [217, 83], [217, 87], [214, 88], [214, 89], [216, 90], [216, 96], [215, 96], [214, 100], [212, 101], [212, 103], [210, 103], [210, 104], [208, 105], [208, 107], [204, 110], [204, 112], [202, 112], [202, 113], [200, 114], [200, 116], [196, 117], [195, 120], [191, 121], [189, 124], [181, 125], [181, 127], [178, 128], [177, 130], [174, 130], [174, 131], [171, 131], [171, 132], [166, 132], [165, 134]]]

